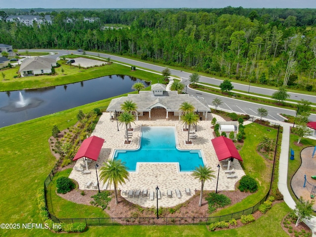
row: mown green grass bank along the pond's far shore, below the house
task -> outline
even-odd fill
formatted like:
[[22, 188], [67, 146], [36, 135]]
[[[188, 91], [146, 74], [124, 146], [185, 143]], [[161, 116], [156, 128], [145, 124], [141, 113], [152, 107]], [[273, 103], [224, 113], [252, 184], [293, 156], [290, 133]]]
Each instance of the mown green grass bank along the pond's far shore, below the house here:
[[[129, 67], [122, 66], [116, 63], [105, 65], [102, 67], [94, 67], [89, 69], [80, 69], [75, 66], [71, 66], [62, 63], [61, 67], [55, 68], [57, 75], [40, 75], [32, 77], [23, 77], [23, 78], [13, 78], [13, 76], [18, 75], [16, 72], [19, 70], [19, 67], [8, 69], [3, 71], [6, 75], [5, 80], [0, 80], [0, 91], [11, 91], [11, 90], [22, 90], [27, 88], [40, 88], [40, 87], [49, 87], [56, 85], [63, 85], [74, 83], [82, 80], [94, 79], [108, 75], [127, 75], [135, 77], [138, 79], [144, 79], [147, 81], [152, 81], [152, 84], [157, 83], [157, 75], [137, 70], [131, 71]], [[61, 72], [61, 68], [65, 70], [64, 75]]]

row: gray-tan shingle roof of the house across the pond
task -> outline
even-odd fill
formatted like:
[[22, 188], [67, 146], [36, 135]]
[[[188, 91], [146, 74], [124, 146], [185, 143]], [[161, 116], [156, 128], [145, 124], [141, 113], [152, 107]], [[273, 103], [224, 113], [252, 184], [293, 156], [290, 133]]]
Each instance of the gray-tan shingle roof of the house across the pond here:
[[22, 61], [20, 72], [41, 70], [41, 69], [51, 69], [52, 63], [56, 63], [56, 60], [52, 58], [45, 58], [45, 57], [28, 58]]

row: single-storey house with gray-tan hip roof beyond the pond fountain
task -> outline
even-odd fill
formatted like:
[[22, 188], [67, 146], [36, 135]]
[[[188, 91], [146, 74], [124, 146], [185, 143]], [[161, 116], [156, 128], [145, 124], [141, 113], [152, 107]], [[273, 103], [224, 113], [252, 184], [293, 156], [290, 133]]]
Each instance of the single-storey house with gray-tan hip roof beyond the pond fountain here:
[[56, 67], [56, 59], [46, 57], [33, 57], [22, 61], [20, 66], [21, 77], [52, 73], [52, 68]]

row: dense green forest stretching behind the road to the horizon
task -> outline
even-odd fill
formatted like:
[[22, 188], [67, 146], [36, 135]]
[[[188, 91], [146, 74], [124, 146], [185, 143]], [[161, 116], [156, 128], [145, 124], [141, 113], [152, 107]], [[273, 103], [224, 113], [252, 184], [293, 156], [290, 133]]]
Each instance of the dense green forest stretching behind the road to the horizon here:
[[[0, 43], [19, 49], [109, 52], [220, 77], [316, 91], [316, 9], [103, 9], [45, 14], [53, 17], [53, 24], [25, 26], [0, 20]], [[83, 17], [99, 20], [88, 23]], [[73, 22], [67, 23], [67, 18]]]

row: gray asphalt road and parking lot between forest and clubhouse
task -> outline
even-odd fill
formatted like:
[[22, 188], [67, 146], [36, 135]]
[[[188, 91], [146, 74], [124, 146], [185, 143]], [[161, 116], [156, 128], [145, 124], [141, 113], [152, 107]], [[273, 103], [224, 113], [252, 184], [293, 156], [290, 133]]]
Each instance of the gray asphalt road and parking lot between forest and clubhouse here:
[[[23, 51], [23, 50], [21, 50], [21, 51]], [[79, 53], [76, 50], [49, 50], [49, 49], [32, 49], [31, 50], [30, 49], [29, 51], [30, 52], [32, 52], [32, 51], [58, 52], [58, 54], [49, 56], [52, 58], [61, 57], [63, 55], [71, 54], [71, 53], [82, 54], [82, 52]], [[94, 53], [94, 52], [87, 52], [87, 53], [89, 55], [98, 56], [98, 53]], [[115, 60], [115, 61], [120, 61], [122, 63], [132, 64], [132, 65], [135, 65], [138, 67], [147, 68], [149, 70], [154, 70], [154, 71], [158, 71], [158, 72], [161, 72], [164, 69], [164, 67], [161, 67], [161, 66], [157, 66], [154, 64], [150, 64], [150, 63], [143, 63], [143, 62], [139, 62], [139, 61], [132, 60], [132, 59], [126, 59], [126, 58], [122, 58], [119, 56], [113, 56], [113, 55], [104, 54], [104, 53], [99, 53], [99, 55], [102, 57], [106, 57], [106, 58], [110, 57], [112, 60]], [[171, 69], [170, 71], [171, 71], [172, 75], [175, 75], [175, 76], [182, 78], [182, 83], [184, 83], [185, 85], [188, 85], [190, 83], [190, 81], [189, 81], [189, 77], [191, 75], [190, 73], [186, 73], [186, 72], [182, 72], [182, 71], [178, 71], [178, 70], [173, 70], [173, 69]], [[200, 81], [215, 84], [215, 85], [219, 85], [221, 83], [221, 80], [214, 79], [214, 78], [207, 78], [207, 77], [201, 77]], [[248, 92], [249, 86], [234, 83], [234, 88]], [[216, 97], [221, 98], [221, 100], [223, 101], [223, 104], [219, 107], [219, 109], [222, 109], [222, 110], [225, 110], [228, 112], [236, 112], [236, 113], [241, 113], [241, 114], [248, 114], [248, 115], [253, 116], [253, 117], [258, 117], [257, 109], [263, 107], [269, 111], [269, 115], [267, 116], [267, 118], [274, 119], [276, 121], [282, 121], [284, 119], [284, 118], [280, 117], [279, 114], [287, 114], [287, 115], [295, 116], [295, 110], [281, 109], [281, 108], [277, 108], [277, 107], [273, 107], [273, 106], [266, 106], [266, 105], [260, 105], [257, 103], [241, 101], [241, 100], [237, 100], [234, 98], [228, 98], [228, 97], [224, 97], [224, 96], [220, 96], [220, 95], [213, 95], [210, 93], [205, 93], [205, 92], [193, 90], [193, 89], [190, 89], [189, 87], [186, 87], [185, 90], [187, 93], [189, 93], [191, 95], [203, 97], [207, 101], [208, 105], [210, 105], [210, 107], [212, 107], [212, 100], [213, 99], [215, 99]], [[257, 91], [255, 92], [255, 90], [257, 90]], [[265, 95], [272, 95], [274, 93], [274, 91], [275, 90], [263, 89], [260, 87], [250, 86], [250, 92], [255, 92], [255, 93], [260, 93], [260, 94], [265, 94]], [[303, 95], [303, 94], [297, 94], [297, 93], [290, 93], [290, 94], [291, 94], [291, 98], [294, 100], [301, 100], [302, 98], [304, 98], [306, 100], [309, 100], [311, 102], [316, 103], [316, 96]], [[258, 102], [258, 103], [260, 103], [260, 102]], [[312, 121], [316, 121], [316, 115], [315, 114], [311, 115], [309, 119]]]

